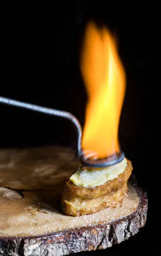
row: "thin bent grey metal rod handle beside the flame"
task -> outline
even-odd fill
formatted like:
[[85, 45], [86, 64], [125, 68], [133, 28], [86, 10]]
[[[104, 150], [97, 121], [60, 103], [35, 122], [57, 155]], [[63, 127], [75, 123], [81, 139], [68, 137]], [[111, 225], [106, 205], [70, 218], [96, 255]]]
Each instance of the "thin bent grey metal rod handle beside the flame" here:
[[18, 101], [18, 100], [12, 100], [12, 99], [2, 97], [2, 96], [0, 96], [0, 103], [12, 105], [12, 106], [19, 107], [19, 108], [26, 108], [29, 110], [41, 112], [41, 113], [48, 114], [48, 115], [54, 115], [54, 116], [58, 116], [58, 117], [70, 120], [72, 123], [74, 123], [74, 125], [77, 129], [77, 132], [78, 132], [77, 155], [79, 157], [81, 156], [82, 128], [81, 128], [81, 124], [79, 123], [78, 119], [71, 113], [63, 111], [63, 110], [56, 110], [53, 108], [46, 108], [46, 107], [42, 107], [39, 105], [25, 103], [25, 102]]

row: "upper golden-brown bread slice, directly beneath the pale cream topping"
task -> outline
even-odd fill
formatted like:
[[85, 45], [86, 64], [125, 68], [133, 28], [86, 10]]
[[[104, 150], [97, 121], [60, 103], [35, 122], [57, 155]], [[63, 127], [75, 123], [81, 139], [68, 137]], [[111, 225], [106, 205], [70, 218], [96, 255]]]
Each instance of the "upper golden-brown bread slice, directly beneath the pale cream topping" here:
[[103, 185], [93, 188], [78, 187], [70, 181], [70, 176], [68, 176], [64, 182], [63, 199], [71, 201], [75, 197], [80, 197], [83, 200], [88, 200], [115, 192], [128, 180], [132, 169], [131, 161], [127, 159], [127, 166], [122, 174], [118, 175], [116, 179], [107, 181]]

